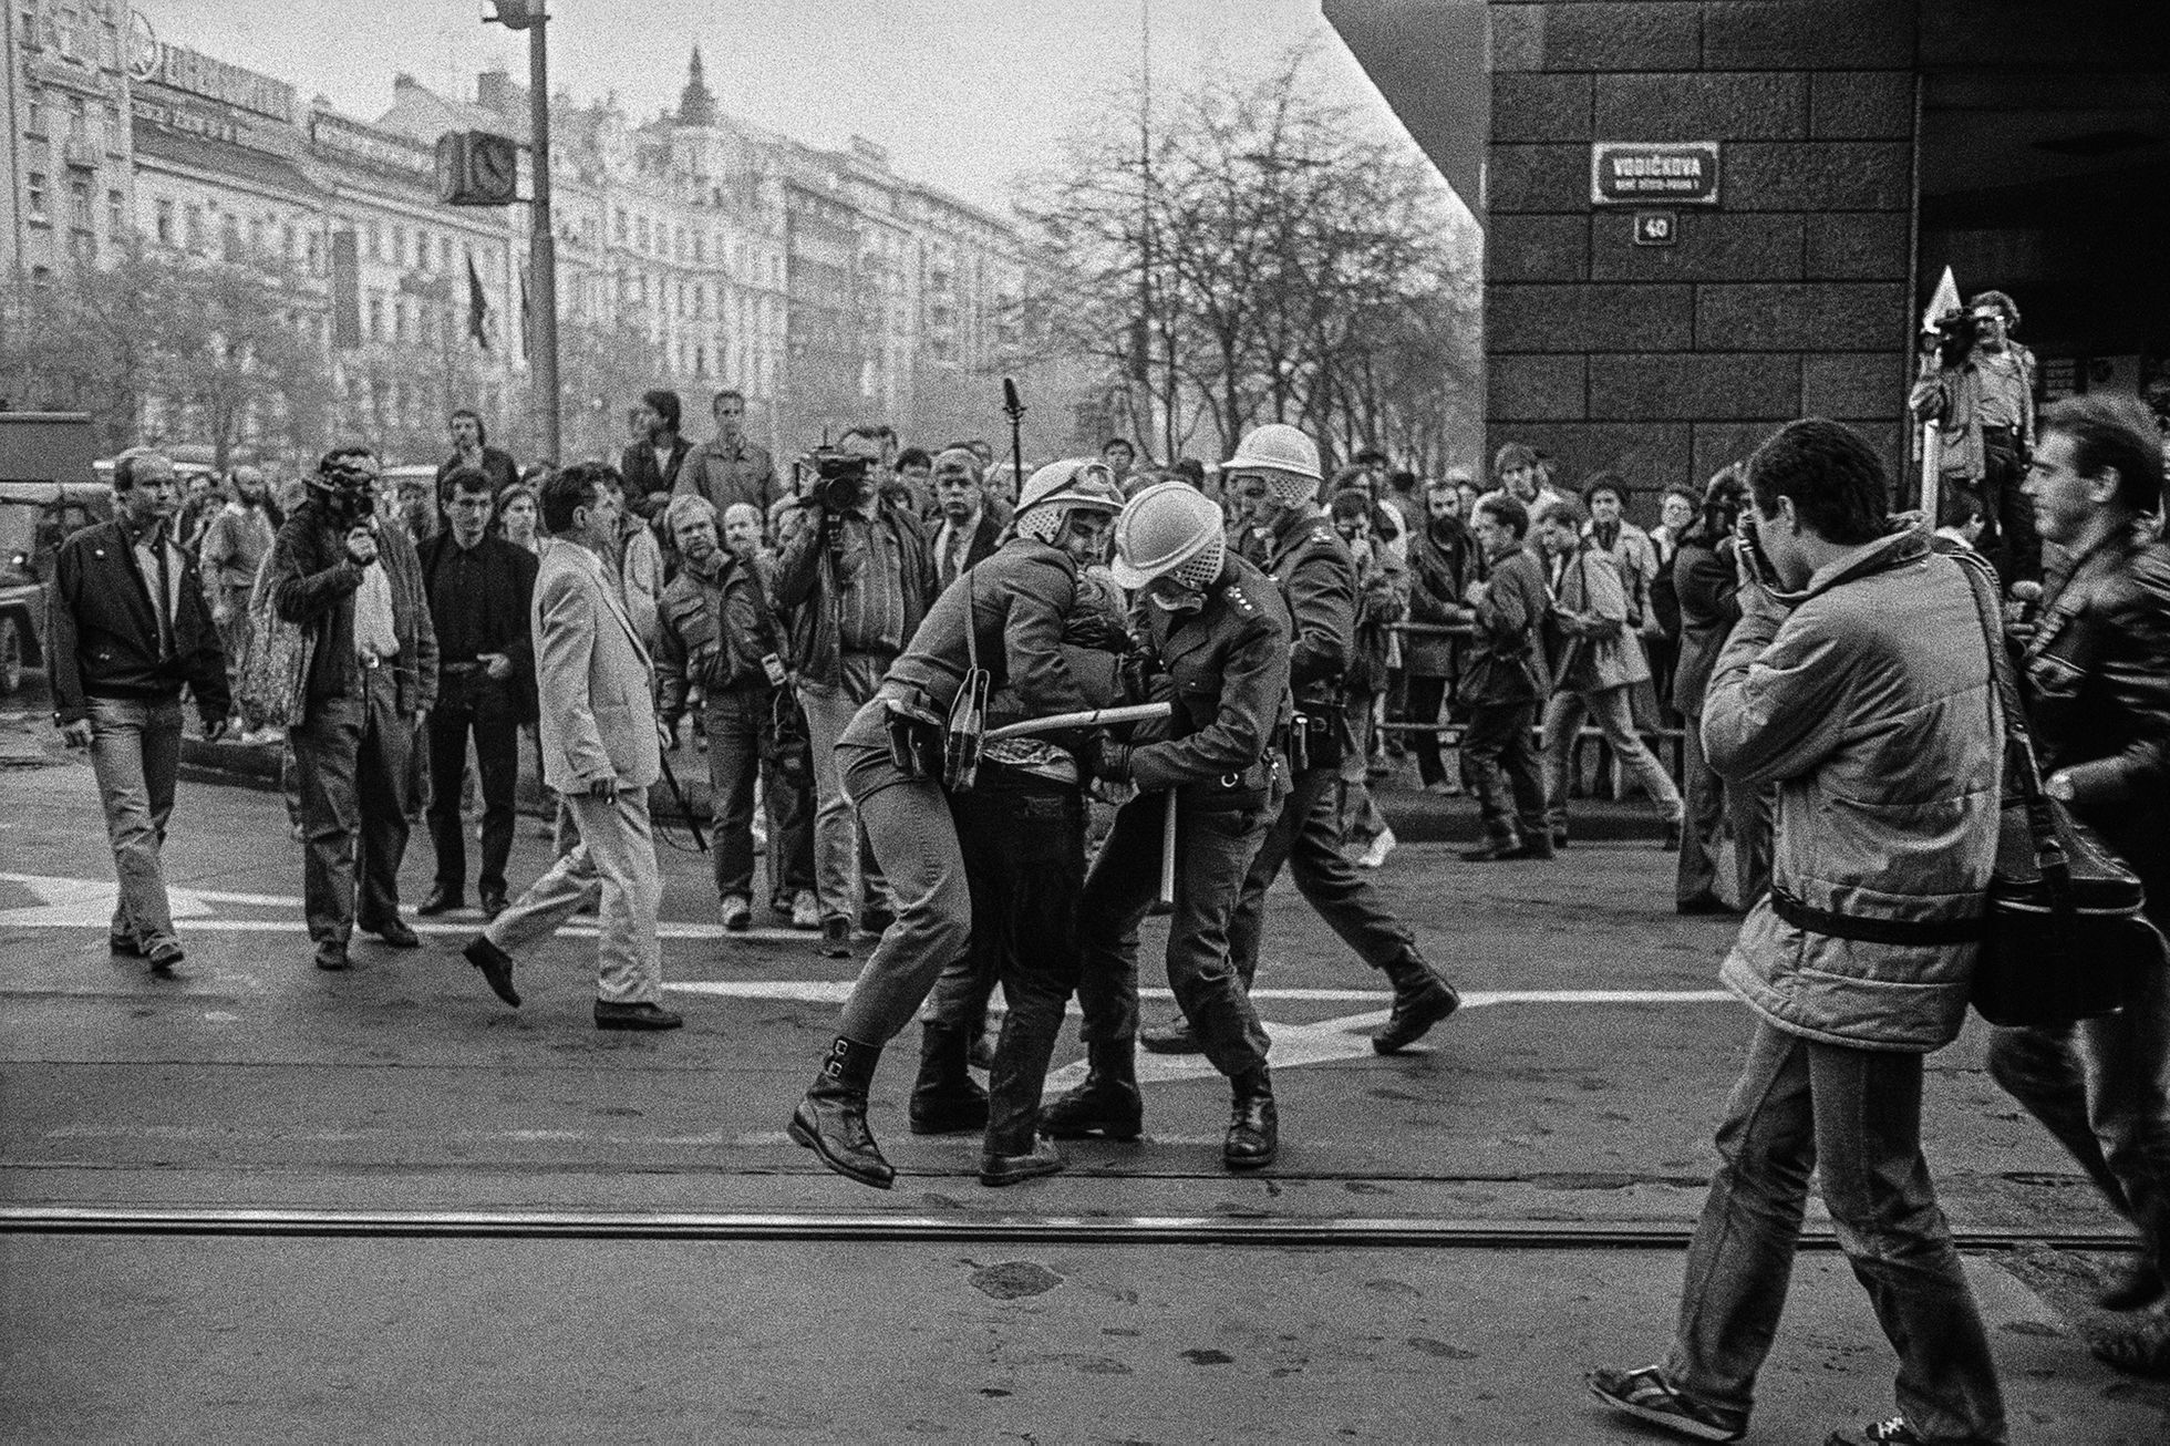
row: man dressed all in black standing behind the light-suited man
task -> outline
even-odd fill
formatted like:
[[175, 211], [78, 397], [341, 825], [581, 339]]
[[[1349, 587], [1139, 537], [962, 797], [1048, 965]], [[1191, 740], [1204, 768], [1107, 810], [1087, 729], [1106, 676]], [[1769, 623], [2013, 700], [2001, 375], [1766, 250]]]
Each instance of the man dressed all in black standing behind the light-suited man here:
[[536, 719], [534, 640], [527, 606], [536, 558], [490, 534], [490, 478], [456, 467], [445, 478], [451, 525], [421, 545], [421, 575], [436, 630], [438, 688], [430, 710], [430, 842], [436, 886], [417, 914], [445, 914], [464, 901], [467, 825], [460, 819], [460, 775], [467, 740], [475, 740], [482, 779], [482, 871], [475, 901], [488, 918], [506, 908], [506, 860], [512, 855], [514, 790], [521, 723]]

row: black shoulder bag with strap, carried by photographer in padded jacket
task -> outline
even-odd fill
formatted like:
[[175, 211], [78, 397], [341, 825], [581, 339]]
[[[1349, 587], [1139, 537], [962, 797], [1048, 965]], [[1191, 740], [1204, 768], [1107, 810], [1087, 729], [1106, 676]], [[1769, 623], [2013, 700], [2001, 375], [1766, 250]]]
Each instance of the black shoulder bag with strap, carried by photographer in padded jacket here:
[[1975, 1010], [1992, 1025], [2068, 1025], [2116, 1014], [2150, 971], [2163, 936], [2142, 912], [2140, 879], [2057, 799], [2042, 792], [2033, 736], [1986, 562], [1957, 558], [1975, 591], [2005, 716], [2005, 782], [1996, 868]]

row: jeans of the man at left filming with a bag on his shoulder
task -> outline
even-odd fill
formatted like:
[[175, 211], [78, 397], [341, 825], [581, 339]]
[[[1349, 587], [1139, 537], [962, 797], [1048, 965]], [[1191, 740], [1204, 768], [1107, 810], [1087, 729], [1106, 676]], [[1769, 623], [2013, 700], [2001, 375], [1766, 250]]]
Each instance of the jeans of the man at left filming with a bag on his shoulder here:
[[302, 908], [319, 944], [399, 916], [414, 721], [399, 716], [388, 667], [356, 669], [354, 686], [312, 701], [286, 734], [302, 775]]

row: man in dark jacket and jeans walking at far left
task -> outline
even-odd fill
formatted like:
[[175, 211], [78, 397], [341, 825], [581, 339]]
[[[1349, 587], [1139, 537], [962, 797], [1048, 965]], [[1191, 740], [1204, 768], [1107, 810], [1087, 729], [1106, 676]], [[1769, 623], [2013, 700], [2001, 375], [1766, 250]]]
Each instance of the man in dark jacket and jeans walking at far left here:
[[82, 528], [54, 558], [46, 599], [52, 721], [91, 751], [113, 873], [113, 953], [169, 973], [182, 960], [165, 895], [165, 823], [180, 775], [180, 690], [204, 738], [226, 732], [226, 660], [195, 565], [171, 536], [174, 462], [126, 452], [113, 465], [113, 521]]

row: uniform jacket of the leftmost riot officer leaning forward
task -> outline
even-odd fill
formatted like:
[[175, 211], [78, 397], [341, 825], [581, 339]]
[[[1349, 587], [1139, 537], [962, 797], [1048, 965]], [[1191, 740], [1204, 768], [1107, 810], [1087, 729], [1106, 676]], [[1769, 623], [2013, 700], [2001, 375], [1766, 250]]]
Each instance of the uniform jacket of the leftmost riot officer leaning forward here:
[[[1005, 706], [1016, 708], [990, 716], [987, 727], [1092, 708], [1063, 658], [1063, 623], [1076, 606], [1078, 569], [1070, 554], [1011, 538], [935, 599], [890, 664], [885, 686], [911, 684], [929, 710], [946, 714], [976, 647], [990, 695], [1000, 693]], [[968, 625], [972, 647], [966, 645]]]

